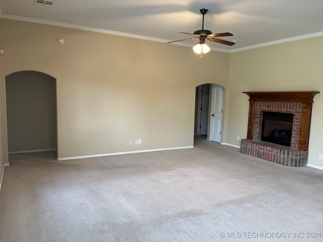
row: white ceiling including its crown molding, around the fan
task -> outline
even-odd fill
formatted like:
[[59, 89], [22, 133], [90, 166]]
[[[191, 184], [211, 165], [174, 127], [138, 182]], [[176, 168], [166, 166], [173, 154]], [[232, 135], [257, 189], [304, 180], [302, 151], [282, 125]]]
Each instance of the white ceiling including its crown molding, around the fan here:
[[[51, 0], [48, 0], [51, 1]], [[323, 0], [0, 0], [0, 17], [168, 42], [202, 28], [230, 32], [233, 46], [208, 42], [213, 50], [248, 48], [323, 35]], [[195, 40], [175, 44], [193, 46]]]

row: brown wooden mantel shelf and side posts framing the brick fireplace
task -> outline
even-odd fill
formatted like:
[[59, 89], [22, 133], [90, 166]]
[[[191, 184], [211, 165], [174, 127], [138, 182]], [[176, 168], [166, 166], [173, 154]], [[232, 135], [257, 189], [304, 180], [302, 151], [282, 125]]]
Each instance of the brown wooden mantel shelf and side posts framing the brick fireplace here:
[[300, 102], [302, 103], [301, 127], [299, 134], [299, 150], [308, 150], [309, 131], [312, 115], [313, 97], [319, 93], [316, 91], [303, 92], [243, 92], [249, 95], [249, 117], [247, 139], [252, 140], [254, 108], [256, 101], [272, 102]]

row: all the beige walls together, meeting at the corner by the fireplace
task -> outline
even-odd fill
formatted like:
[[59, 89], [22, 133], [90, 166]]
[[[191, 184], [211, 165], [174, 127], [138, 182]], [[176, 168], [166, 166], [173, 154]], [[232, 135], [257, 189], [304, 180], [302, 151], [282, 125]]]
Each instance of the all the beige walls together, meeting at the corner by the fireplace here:
[[[5, 77], [18, 71], [57, 79], [59, 158], [192, 146], [195, 87], [204, 83], [226, 88], [224, 143], [239, 146], [236, 137], [247, 133], [248, 96], [243, 91], [323, 87], [322, 37], [230, 55], [211, 51], [199, 58], [183, 46], [6, 19], [0, 19], [0, 31], [5, 163]], [[308, 163], [320, 167], [322, 107], [318, 94]], [[135, 139], [142, 144], [130, 145]]]

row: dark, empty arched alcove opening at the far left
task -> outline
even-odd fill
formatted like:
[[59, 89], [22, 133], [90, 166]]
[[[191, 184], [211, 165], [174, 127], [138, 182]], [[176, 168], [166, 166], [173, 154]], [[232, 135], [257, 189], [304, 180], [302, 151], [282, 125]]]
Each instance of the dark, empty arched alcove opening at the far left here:
[[6, 76], [8, 152], [57, 150], [56, 79], [35, 71]]

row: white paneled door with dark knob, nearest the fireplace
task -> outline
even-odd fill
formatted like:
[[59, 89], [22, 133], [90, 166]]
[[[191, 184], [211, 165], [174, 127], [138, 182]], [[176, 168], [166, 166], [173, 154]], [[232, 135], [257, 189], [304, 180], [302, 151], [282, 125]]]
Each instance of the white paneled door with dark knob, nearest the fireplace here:
[[223, 88], [212, 85], [210, 140], [221, 142]]

